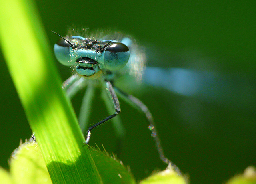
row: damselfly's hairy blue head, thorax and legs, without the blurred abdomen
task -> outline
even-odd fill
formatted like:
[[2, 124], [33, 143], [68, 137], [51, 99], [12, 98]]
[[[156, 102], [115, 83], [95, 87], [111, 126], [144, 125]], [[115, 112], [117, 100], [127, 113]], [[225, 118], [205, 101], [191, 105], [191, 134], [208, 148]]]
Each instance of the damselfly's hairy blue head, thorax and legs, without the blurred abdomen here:
[[[68, 36], [60, 37], [61, 39], [54, 45], [55, 56], [60, 63], [72, 67], [74, 71], [62, 86], [66, 89], [67, 95], [72, 98], [80, 89], [87, 86], [82, 102], [82, 107], [86, 109], [91, 105], [90, 96], [94, 93], [94, 87], [100, 86], [105, 94], [108, 111], [111, 112], [114, 107], [113, 113], [88, 128], [85, 143], [88, 144], [91, 131], [95, 127], [121, 112], [118, 101], [120, 97], [145, 114], [148, 129], [155, 140], [160, 159], [179, 172], [178, 167], [164, 155], [149, 109], [142, 101], [124, 93], [114, 85], [115, 79], [123, 75], [133, 76], [136, 78], [135, 81], [142, 78], [145, 69], [144, 49], [136, 45], [130, 36], [124, 36], [118, 32], [112, 34], [98, 32], [96, 35], [89, 35], [88, 30], [84, 30], [83, 35], [79, 35], [75, 30], [71, 30]], [[88, 115], [88, 112], [80, 113], [79, 123], [82, 130], [86, 127], [84, 122], [87, 121]]]

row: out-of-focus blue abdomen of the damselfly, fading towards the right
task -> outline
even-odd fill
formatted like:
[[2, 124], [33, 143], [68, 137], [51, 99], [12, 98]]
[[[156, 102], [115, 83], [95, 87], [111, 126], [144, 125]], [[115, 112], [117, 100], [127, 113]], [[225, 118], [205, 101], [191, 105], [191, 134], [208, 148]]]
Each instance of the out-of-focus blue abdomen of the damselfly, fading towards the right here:
[[229, 108], [253, 108], [256, 105], [256, 83], [245, 76], [187, 68], [147, 67], [143, 81], [172, 93]]

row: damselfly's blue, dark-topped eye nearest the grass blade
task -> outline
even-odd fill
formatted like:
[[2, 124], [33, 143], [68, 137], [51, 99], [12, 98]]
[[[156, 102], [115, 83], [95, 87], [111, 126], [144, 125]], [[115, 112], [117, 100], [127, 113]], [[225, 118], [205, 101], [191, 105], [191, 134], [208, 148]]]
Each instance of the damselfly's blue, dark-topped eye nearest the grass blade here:
[[61, 38], [56, 44], [54, 45], [54, 54], [57, 58], [57, 60], [65, 66], [71, 66], [72, 63], [70, 63], [70, 43], [68, 43], [66, 40]]

